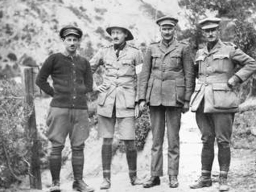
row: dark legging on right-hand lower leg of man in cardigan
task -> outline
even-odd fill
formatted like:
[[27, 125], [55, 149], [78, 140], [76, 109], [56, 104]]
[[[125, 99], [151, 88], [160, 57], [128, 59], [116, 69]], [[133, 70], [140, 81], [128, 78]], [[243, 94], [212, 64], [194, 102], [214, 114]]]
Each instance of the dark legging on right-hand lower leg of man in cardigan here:
[[74, 172], [74, 180], [83, 179], [84, 156], [83, 149], [72, 149], [72, 168]]

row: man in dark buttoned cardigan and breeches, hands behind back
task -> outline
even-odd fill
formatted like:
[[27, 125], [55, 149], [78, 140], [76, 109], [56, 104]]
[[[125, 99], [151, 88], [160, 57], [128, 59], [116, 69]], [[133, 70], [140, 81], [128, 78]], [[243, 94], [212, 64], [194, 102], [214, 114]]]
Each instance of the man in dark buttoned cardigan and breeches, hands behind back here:
[[[61, 151], [68, 134], [72, 148], [73, 189], [80, 192], [93, 192], [93, 188], [83, 181], [83, 148], [84, 141], [89, 136], [85, 93], [92, 91], [91, 67], [85, 58], [76, 53], [83, 35], [82, 30], [74, 26], [65, 26], [59, 35], [63, 40], [65, 51], [50, 55], [36, 79], [36, 84], [53, 97], [46, 119], [49, 127], [48, 138], [52, 143], [50, 192], [60, 191]], [[53, 86], [47, 82], [50, 75]]]

